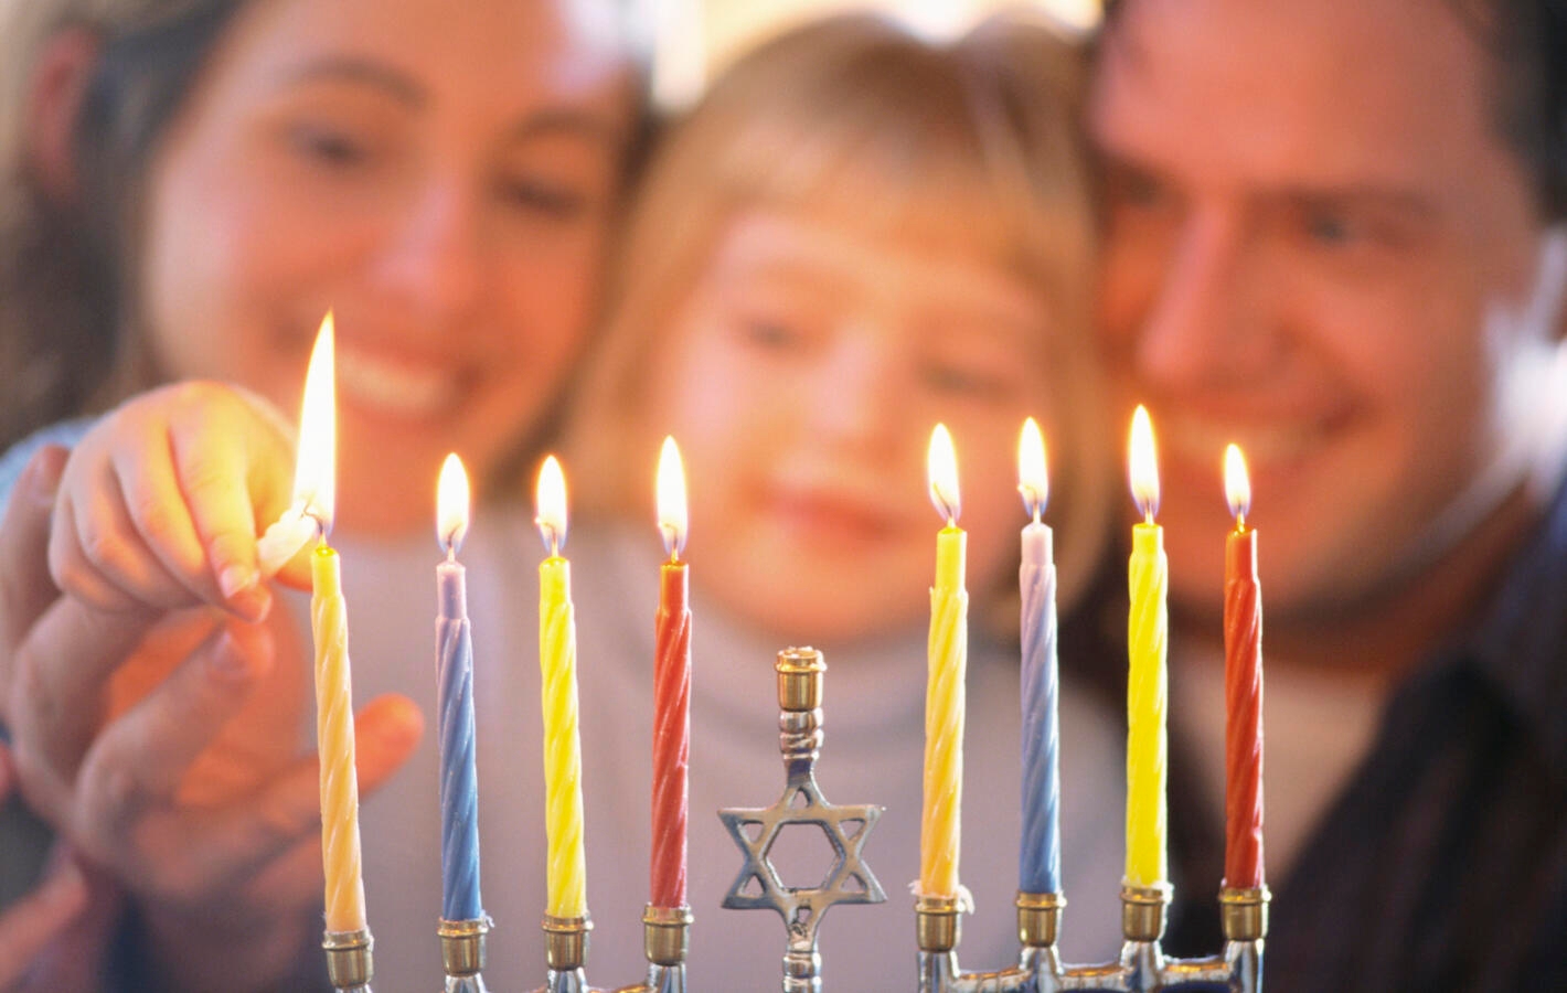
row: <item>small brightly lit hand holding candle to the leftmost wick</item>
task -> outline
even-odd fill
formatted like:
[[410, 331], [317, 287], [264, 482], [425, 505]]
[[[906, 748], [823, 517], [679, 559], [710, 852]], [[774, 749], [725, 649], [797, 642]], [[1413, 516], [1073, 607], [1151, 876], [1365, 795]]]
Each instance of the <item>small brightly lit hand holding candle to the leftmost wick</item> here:
[[[266, 401], [224, 384], [125, 401], [66, 464], [49, 542], [55, 583], [105, 611], [207, 603], [262, 620], [271, 595], [255, 534], [290, 504], [290, 434]], [[301, 559], [284, 578], [307, 589]]]

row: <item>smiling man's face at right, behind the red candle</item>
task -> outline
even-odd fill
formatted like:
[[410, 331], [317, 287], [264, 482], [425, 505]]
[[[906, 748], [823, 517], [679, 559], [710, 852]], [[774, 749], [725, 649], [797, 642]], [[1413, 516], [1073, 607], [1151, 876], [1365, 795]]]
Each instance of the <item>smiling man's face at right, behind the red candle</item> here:
[[1089, 110], [1102, 320], [1172, 592], [1218, 609], [1238, 442], [1269, 616], [1365, 601], [1517, 492], [1559, 406], [1559, 254], [1487, 56], [1440, 0], [1124, 6]]

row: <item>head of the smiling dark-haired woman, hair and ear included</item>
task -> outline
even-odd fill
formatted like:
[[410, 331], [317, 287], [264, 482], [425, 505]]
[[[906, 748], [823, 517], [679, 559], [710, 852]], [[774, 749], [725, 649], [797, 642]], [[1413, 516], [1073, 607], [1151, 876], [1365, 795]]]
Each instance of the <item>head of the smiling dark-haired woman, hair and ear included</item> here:
[[423, 523], [448, 450], [483, 479], [536, 435], [635, 136], [592, 3], [16, 6], [6, 440], [163, 379], [291, 410], [328, 309], [349, 526]]

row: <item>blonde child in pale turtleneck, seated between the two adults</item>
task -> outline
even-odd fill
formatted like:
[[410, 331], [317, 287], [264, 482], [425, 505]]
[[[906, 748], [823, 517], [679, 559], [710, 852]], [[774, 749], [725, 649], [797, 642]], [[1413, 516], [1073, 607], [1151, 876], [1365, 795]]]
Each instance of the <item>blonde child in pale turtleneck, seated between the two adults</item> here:
[[[624, 756], [650, 735], [652, 630], [638, 606], [655, 595], [653, 457], [671, 434], [691, 503], [689, 872], [705, 901], [691, 976], [702, 987], [779, 976], [774, 915], [715, 921], [741, 854], [711, 811], [763, 807], [782, 789], [771, 661], [794, 644], [823, 648], [831, 667], [824, 791], [888, 808], [865, 849], [888, 905], [832, 913], [827, 982], [888, 988], [912, 957], [904, 883], [918, 872], [929, 587], [945, 523], [925, 482], [937, 421], [956, 440], [973, 592], [961, 877], [978, 916], [962, 959], [1000, 968], [1015, 955], [1009, 645], [1026, 415], [1051, 443], [1062, 605], [1097, 558], [1109, 503], [1077, 69], [1070, 45], [1026, 20], [989, 22], [950, 47], [876, 19], [826, 20], [733, 66], [644, 177], [567, 459], [597, 517], [572, 537], [589, 886], [603, 866], [624, 885], [647, 858], [649, 774]], [[1067, 952], [1109, 957], [1120, 746], [1114, 720], [1070, 688], [1064, 720]], [[594, 833], [603, 824], [614, 840]], [[780, 849], [787, 885], [821, 879], [821, 850]], [[599, 916], [595, 940], [635, 944], [630, 910]]]

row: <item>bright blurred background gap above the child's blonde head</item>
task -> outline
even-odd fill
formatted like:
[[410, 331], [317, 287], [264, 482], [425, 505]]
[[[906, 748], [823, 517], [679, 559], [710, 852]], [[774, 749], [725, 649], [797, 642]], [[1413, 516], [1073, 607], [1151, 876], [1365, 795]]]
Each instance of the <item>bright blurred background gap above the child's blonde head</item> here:
[[1098, 20], [1100, 0], [644, 0], [652, 14], [653, 92], [664, 107], [682, 107], [702, 81], [735, 55], [780, 27], [845, 9], [878, 9], [903, 17], [932, 38], [956, 34], [1009, 6], [1037, 6], [1083, 30]]

